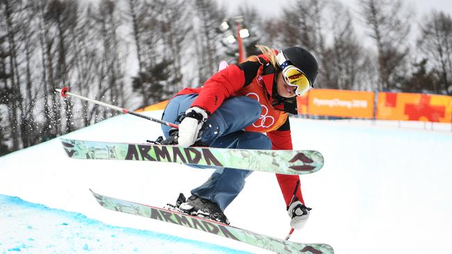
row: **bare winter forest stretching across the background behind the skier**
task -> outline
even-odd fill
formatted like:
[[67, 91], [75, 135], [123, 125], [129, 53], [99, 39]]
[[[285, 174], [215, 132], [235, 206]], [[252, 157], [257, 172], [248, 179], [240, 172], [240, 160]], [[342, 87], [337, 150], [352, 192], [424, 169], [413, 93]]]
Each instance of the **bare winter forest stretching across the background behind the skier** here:
[[237, 15], [248, 56], [256, 44], [312, 51], [318, 88], [452, 95], [449, 13], [419, 22], [402, 0], [357, 0], [358, 13], [337, 0], [296, 3], [266, 17], [213, 0], [1, 0], [0, 155], [118, 114], [56, 88], [134, 110], [202, 85], [220, 60], [237, 61], [218, 29], [229, 20], [234, 35]]

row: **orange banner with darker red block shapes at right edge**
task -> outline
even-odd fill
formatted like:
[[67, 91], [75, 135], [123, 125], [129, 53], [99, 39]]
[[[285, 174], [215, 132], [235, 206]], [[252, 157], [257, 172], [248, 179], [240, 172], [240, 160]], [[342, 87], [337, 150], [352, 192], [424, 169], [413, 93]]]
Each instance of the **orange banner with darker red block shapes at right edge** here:
[[452, 96], [378, 93], [377, 119], [450, 123]]

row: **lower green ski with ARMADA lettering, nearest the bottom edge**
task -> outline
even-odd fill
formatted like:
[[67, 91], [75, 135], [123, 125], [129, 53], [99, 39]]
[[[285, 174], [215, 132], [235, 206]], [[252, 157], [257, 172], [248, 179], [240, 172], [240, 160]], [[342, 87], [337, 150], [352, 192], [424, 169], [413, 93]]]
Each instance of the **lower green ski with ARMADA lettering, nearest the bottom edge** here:
[[[92, 192], [92, 190], [90, 190]], [[300, 244], [289, 242], [275, 237], [261, 235], [227, 224], [218, 223], [200, 217], [194, 217], [188, 214], [174, 210], [156, 208], [150, 205], [142, 205], [131, 201], [124, 201], [118, 198], [103, 196], [92, 192], [99, 205], [103, 208], [116, 212], [139, 215], [158, 221], [177, 224], [187, 228], [193, 228], [213, 235], [227, 237], [245, 244], [264, 248], [275, 253], [305, 253], [305, 254], [333, 254], [333, 248], [328, 244]]]

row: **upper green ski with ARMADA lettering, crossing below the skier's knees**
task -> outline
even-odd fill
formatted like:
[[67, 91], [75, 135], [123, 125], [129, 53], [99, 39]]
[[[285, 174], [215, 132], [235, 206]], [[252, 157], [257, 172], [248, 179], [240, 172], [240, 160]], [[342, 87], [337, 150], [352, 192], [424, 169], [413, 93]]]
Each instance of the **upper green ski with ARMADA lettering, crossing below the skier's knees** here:
[[323, 167], [323, 155], [312, 150], [251, 150], [127, 144], [61, 139], [67, 156], [88, 160], [143, 160], [207, 167], [229, 167], [302, 175]]

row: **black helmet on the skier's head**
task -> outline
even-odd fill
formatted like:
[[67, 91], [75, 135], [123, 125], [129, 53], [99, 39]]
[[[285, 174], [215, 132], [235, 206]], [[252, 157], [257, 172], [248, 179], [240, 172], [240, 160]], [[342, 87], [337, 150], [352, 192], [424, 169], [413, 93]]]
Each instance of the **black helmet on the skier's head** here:
[[[284, 55], [286, 61], [291, 62], [291, 65], [300, 69], [309, 79], [312, 87], [314, 87], [318, 74], [318, 64], [316, 58], [312, 56], [312, 53], [309, 53], [309, 51], [300, 46], [291, 46], [283, 49], [280, 53]], [[277, 62], [281, 67], [284, 60], [277, 57]], [[284, 66], [282, 66], [282, 69], [284, 69]]]

